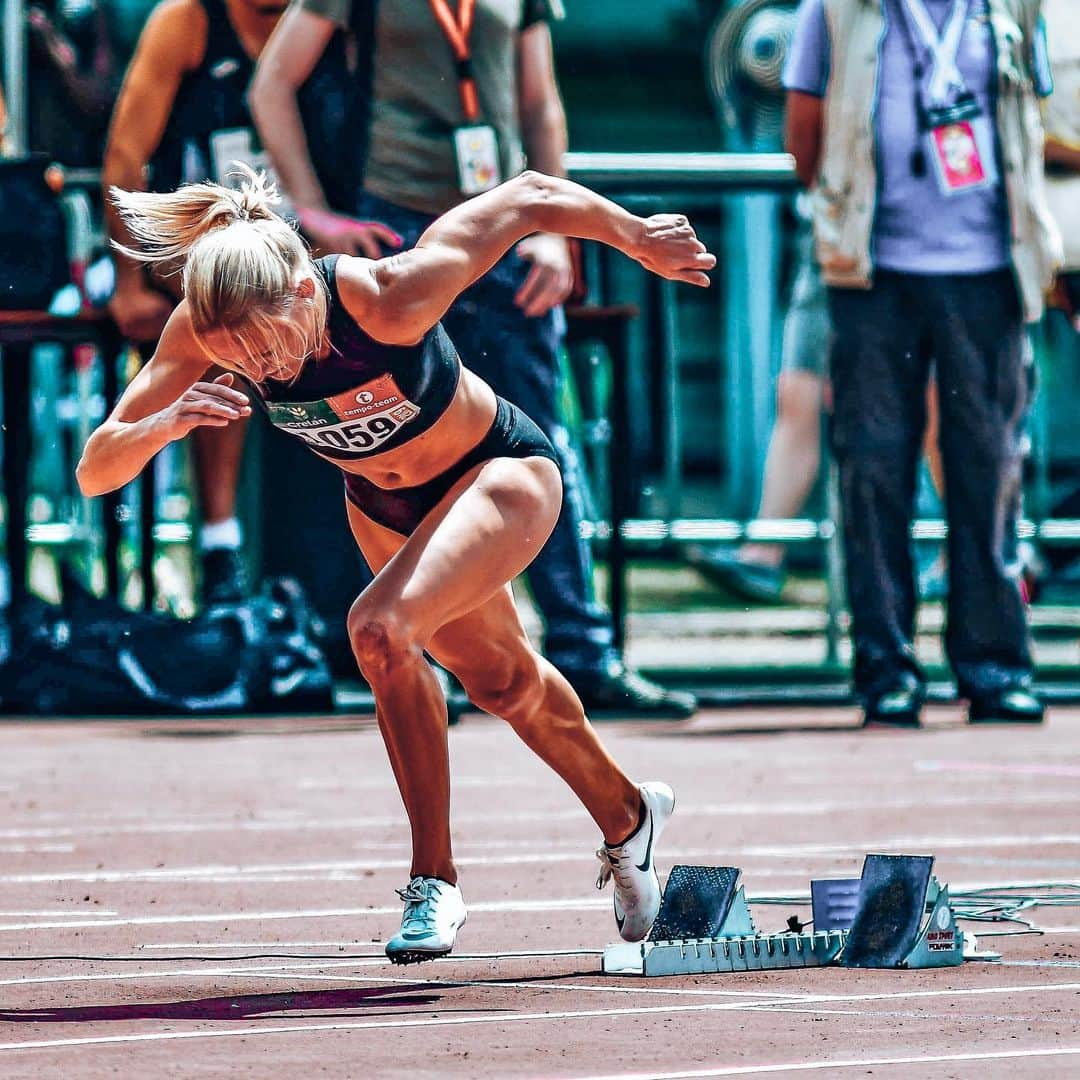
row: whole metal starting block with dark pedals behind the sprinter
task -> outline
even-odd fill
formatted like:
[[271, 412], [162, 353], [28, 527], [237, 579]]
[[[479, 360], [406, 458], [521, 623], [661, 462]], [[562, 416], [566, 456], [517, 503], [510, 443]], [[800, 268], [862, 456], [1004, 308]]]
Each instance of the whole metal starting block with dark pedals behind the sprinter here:
[[[609, 945], [609, 975], [789, 968], [946, 968], [977, 953], [957, 927], [930, 855], [869, 854], [860, 878], [810, 886], [813, 931], [758, 933], [732, 866], [675, 866], [647, 941]], [[966, 949], [967, 945], [967, 949]]]

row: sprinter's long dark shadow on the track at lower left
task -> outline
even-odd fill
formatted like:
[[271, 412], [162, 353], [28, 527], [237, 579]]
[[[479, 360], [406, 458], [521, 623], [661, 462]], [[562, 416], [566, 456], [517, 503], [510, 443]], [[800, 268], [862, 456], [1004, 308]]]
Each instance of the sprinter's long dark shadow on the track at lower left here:
[[[440, 987], [442, 989], [442, 987]], [[423, 983], [369, 986], [335, 990], [291, 990], [284, 994], [246, 994], [189, 1001], [139, 1001], [131, 1004], [65, 1005], [56, 1009], [3, 1009], [0, 1022], [9, 1024], [89, 1024], [98, 1021], [253, 1020], [288, 1013], [301, 1018], [355, 1016], [373, 1007], [391, 1010], [431, 1009], [442, 996]]]

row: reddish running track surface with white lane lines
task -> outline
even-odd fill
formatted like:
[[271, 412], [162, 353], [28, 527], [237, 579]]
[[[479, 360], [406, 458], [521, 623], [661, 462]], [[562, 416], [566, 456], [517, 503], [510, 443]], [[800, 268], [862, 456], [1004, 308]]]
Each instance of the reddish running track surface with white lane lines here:
[[[1080, 880], [1080, 711], [860, 732], [847, 711], [607, 724], [679, 805], [658, 852], [752, 896], [930, 852]], [[391, 968], [407, 834], [369, 719], [0, 726], [0, 1076], [1080, 1076], [1080, 910], [1000, 964], [609, 978], [594, 827], [497, 721], [450, 732], [459, 955]], [[793, 905], [755, 907], [782, 929]]]

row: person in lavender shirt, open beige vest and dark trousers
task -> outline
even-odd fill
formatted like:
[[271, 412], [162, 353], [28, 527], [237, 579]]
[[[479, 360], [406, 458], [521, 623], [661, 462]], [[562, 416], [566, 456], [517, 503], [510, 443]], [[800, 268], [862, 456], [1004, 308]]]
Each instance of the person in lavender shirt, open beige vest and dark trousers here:
[[[941, 402], [945, 647], [972, 721], [1042, 719], [1004, 558], [1020, 485], [1026, 319], [1058, 240], [1037, 95], [1039, 0], [804, 0], [786, 141], [812, 189], [834, 327], [854, 687], [868, 725], [918, 726], [908, 540], [931, 360]], [[1000, 40], [999, 40], [1000, 39]]]

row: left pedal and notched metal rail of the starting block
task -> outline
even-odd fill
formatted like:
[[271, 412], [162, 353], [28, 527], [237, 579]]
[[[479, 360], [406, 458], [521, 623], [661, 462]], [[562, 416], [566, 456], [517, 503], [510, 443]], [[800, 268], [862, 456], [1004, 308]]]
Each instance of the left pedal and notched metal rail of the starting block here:
[[733, 866], [675, 866], [648, 941], [609, 945], [609, 975], [690, 975], [821, 968], [843, 947], [841, 931], [759, 934]]

